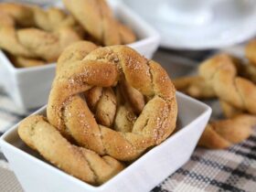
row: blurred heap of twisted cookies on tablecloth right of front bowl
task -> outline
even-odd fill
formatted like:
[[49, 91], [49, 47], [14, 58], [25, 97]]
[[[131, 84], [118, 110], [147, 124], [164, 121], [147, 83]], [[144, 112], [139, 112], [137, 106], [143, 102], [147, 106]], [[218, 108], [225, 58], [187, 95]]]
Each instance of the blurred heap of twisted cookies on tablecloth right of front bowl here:
[[[256, 87], [253, 80], [254, 67], [241, 65], [239, 59], [219, 54], [199, 65], [199, 76], [174, 80], [176, 89], [192, 97], [217, 97], [228, 120], [208, 123], [199, 145], [208, 148], [226, 148], [239, 143], [251, 134], [256, 124]], [[251, 80], [239, 77], [250, 77]]]

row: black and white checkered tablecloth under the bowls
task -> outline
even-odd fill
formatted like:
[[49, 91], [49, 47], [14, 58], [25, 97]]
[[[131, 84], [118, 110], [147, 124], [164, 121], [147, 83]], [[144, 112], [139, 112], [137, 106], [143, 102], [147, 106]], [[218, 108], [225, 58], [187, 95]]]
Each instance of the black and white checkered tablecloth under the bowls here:
[[[156, 56], [156, 59], [168, 62], [165, 51], [162, 54], [158, 52]], [[0, 133], [25, 116], [27, 114], [19, 111], [0, 88]], [[254, 131], [247, 141], [227, 150], [197, 147], [187, 164], [168, 176], [153, 191], [256, 191], [256, 130]], [[0, 192], [7, 191], [18, 192], [22, 188], [0, 152]]]

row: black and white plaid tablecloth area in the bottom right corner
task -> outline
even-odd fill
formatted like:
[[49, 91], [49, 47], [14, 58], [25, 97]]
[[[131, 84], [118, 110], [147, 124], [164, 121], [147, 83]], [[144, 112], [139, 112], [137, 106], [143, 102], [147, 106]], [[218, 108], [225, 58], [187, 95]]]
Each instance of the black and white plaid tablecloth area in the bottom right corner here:
[[228, 150], [197, 148], [186, 165], [153, 191], [255, 191], [256, 132]]

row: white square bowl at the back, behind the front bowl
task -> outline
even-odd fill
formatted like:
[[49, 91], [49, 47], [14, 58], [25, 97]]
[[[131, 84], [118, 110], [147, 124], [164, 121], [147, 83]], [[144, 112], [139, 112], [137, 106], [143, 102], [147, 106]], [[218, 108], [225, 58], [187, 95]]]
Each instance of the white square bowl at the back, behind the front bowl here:
[[[151, 59], [160, 41], [155, 29], [148, 26], [125, 5], [117, 2], [110, 3], [117, 18], [131, 27], [139, 39], [128, 46]], [[55, 63], [52, 63], [33, 68], [15, 68], [5, 53], [0, 50], [0, 85], [24, 111], [40, 107], [48, 101], [55, 66]]]

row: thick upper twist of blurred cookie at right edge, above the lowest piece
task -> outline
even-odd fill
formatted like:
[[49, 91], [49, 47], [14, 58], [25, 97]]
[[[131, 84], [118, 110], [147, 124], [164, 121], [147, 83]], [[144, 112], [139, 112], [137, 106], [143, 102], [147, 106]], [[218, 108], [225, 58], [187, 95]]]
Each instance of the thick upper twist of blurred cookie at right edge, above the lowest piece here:
[[235, 63], [228, 55], [221, 54], [206, 60], [199, 66], [199, 74], [208, 81], [221, 101], [256, 114], [256, 86], [251, 80], [237, 76]]

